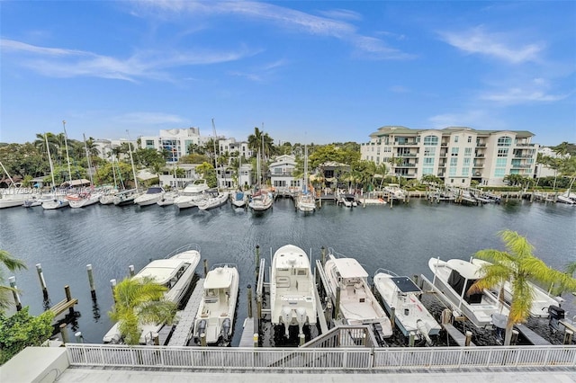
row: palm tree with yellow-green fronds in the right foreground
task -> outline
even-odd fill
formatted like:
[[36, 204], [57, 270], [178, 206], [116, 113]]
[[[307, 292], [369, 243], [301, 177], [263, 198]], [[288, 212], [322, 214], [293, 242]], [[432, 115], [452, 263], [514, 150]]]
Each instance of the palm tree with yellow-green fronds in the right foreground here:
[[468, 293], [502, 286], [505, 281], [510, 282], [512, 298], [504, 339], [504, 345], [509, 345], [514, 325], [526, 322], [530, 315], [533, 293], [529, 281], [546, 284], [555, 282], [563, 289], [576, 290], [576, 280], [566, 273], [548, 267], [532, 254], [534, 246], [517, 232], [502, 230], [499, 235], [508, 251], [485, 249], [475, 254], [476, 257], [489, 261], [491, 264], [482, 266], [481, 272], [484, 276], [472, 285]]

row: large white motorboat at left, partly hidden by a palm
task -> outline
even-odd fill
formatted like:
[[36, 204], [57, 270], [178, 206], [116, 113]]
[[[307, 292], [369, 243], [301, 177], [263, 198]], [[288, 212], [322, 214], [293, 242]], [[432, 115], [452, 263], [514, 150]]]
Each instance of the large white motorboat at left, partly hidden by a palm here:
[[[200, 246], [185, 245], [168, 254], [165, 259], [148, 263], [133, 278], [152, 278], [158, 284], [168, 289], [164, 298], [175, 304], [180, 304], [193, 280], [196, 266], [200, 262]], [[148, 344], [153, 341], [152, 334], [157, 333], [164, 324], [141, 324], [142, 334], [139, 343]], [[118, 323], [103, 336], [103, 343], [121, 343], [121, 333]]]

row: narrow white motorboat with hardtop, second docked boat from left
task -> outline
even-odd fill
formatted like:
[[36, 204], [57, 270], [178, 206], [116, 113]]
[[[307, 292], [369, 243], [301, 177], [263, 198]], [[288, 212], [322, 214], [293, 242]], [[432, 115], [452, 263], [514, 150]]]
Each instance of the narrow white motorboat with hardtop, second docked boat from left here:
[[206, 274], [204, 296], [193, 326], [198, 340], [204, 334], [207, 344], [229, 343], [234, 329], [238, 283], [235, 264], [216, 264]]

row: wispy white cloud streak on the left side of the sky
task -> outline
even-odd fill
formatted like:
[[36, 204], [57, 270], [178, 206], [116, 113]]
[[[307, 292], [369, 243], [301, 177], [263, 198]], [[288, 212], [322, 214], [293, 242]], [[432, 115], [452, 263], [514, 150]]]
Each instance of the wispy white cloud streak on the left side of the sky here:
[[256, 54], [245, 47], [235, 51], [139, 50], [128, 58], [113, 58], [76, 49], [39, 47], [22, 41], [0, 40], [6, 53], [25, 55], [23, 65], [44, 76], [93, 76], [137, 82], [141, 78], [169, 80], [165, 71], [185, 67], [235, 61]]

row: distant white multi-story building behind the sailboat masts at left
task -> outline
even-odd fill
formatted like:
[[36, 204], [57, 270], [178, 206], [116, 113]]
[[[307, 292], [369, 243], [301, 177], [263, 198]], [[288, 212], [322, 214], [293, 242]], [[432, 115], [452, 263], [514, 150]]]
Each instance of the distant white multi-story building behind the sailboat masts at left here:
[[191, 144], [202, 145], [199, 128], [160, 129], [160, 135], [157, 137], [140, 137], [140, 147], [142, 149], [166, 149], [170, 153], [166, 161], [169, 164], [176, 163], [180, 157], [189, 155], [191, 153]]

